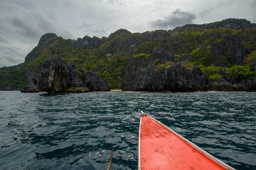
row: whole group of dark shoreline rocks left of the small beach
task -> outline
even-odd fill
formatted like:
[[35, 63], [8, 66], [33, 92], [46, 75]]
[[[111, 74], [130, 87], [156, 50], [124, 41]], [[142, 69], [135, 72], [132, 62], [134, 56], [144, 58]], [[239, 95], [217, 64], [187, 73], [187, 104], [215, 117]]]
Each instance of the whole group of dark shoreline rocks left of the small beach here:
[[31, 67], [28, 71], [27, 87], [20, 92], [81, 93], [91, 91], [109, 91], [109, 85], [93, 71], [81, 71], [78, 76], [73, 63], [68, 65], [60, 57], [49, 55], [44, 61], [40, 76], [37, 77]]

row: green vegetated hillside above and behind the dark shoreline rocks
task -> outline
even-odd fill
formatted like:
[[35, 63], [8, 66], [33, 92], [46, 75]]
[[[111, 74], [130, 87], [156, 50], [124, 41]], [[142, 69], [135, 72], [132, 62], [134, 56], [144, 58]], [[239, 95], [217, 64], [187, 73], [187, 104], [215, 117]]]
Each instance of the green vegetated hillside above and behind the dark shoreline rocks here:
[[[225, 23], [229, 23], [230, 27], [226, 27]], [[190, 55], [189, 63], [181, 64], [191, 70], [196, 64], [213, 81], [221, 80], [220, 69], [237, 81], [252, 80], [256, 76], [252, 70], [256, 57], [255, 42], [255, 25], [237, 19], [207, 25], [185, 25], [172, 31], [131, 33], [120, 29], [108, 38], [85, 36], [73, 40], [47, 33], [42, 36], [38, 46], [28, 53], [24, 63], [0, 68], [0, 89], [24, 88], [28, 68], [32, 66], [40, 74], [44, 59], [49, 55], [61, 57], [68, 64], [74, 62], [77, 70], [93, 69], [112, 89], [120, 89], [131, 57], [147, 58], [157, 47], [170, 51], [176, 61]], [[160, 62], [156, 71], [172, 64]]]

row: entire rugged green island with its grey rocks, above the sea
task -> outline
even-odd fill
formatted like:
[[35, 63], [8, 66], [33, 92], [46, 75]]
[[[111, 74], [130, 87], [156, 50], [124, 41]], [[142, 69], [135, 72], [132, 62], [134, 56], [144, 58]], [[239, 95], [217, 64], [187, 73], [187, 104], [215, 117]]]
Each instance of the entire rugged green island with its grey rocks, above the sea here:
[[229, 18], [173, 30], [63, 39], [44, 34], [0, 90], [256, 91], [256, 24]]

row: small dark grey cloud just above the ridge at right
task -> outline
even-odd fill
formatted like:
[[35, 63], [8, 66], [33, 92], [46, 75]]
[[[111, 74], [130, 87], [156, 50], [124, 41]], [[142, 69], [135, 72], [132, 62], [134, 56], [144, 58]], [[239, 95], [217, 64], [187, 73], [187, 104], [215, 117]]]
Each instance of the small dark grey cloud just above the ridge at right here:
[[156, 28], [170, 29], [185, 24], [191, 24], [195, 19], [195, 14], [177, 9], [173, 11], [171, 15], [168, 15], [168, 17], [150, 22], [150, 25]]

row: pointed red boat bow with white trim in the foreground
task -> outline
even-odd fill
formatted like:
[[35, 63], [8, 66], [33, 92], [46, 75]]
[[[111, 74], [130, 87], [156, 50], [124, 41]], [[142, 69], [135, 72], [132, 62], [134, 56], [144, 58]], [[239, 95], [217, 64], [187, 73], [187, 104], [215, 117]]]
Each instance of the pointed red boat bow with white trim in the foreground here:
[[140, 119], [138, 169], [234, 169], [145, 114]]

